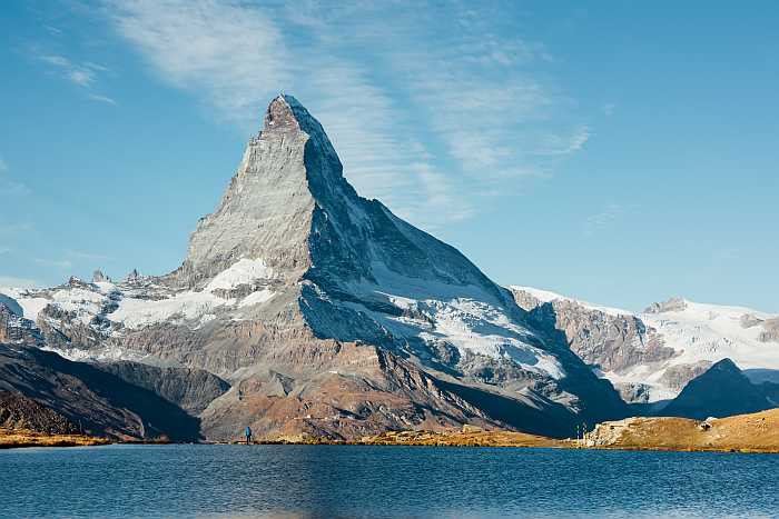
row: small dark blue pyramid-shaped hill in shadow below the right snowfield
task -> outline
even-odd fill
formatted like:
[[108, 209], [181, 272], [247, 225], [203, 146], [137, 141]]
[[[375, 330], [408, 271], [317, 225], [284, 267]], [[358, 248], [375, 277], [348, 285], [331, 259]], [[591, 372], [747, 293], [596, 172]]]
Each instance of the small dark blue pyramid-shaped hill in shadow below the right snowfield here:
[[691, 380], [660, 413], [670, 417], [729, 417], [775, 407], [730, 359], [724, 359]]

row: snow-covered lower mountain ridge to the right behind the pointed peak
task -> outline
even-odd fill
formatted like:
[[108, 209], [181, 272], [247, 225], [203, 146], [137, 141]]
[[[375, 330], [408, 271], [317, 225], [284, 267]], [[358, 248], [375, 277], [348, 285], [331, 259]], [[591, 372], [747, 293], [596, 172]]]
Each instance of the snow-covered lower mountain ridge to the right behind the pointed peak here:
[[633, 313], [529, 287], [511, 290], [531, 320], [564, 333], [628, 402], [660, 406], [726, 358], [748, 372], [779, 369], [778, 316], [682, 298]]

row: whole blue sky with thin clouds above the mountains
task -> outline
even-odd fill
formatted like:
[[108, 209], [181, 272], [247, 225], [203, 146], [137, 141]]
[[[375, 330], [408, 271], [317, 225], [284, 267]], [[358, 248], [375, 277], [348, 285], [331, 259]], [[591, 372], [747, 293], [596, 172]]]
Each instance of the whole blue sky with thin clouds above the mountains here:
[[181, 261], [278, 91], [497, 282], [779, 312], [779, 6], [0, 8], [0, 285]]

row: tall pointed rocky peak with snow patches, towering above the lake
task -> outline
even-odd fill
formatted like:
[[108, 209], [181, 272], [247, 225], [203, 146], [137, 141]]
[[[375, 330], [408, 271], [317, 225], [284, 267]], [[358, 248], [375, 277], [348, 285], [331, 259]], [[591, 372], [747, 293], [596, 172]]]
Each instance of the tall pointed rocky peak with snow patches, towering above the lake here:
[[98, 273], [4, 293], [70, 359], [227, 380], [200, 413], [210, 439], [246, 425], [276, 437], [463, 423], [569, 436], [627, 412], [564, 335], [456, 249], [361, 198], [290, 96], [270, 102], [178, 269]]

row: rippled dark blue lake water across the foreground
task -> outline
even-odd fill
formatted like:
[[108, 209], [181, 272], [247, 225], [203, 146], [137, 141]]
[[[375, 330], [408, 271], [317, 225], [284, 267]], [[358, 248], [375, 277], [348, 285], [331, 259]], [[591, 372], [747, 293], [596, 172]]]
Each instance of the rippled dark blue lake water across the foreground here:
[[777, 517], [779, 456], [110, 446], [0, 451], [3, 517]]

